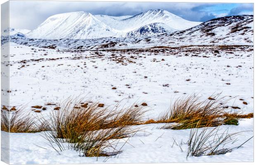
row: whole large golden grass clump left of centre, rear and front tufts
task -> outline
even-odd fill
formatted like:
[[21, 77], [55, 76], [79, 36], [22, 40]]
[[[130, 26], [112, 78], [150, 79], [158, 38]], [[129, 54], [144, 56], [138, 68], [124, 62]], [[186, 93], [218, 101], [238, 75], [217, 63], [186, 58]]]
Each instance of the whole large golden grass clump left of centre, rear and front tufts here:
[[[97, 103], [87, 104], [80, 108], [81, 100], [66, 99], [59, 105], [59, 111], [52, 111], [47, 122], [49, 132], [45, 138], [49, 145], [59, 151], [72, 148], [82, 153], [82, 156], [110, 156], [116, 151], [116, 139], [129, 137], [138, 130], [132, 130], [128, 125], [141, 123], [145, 112], [139, 107], [109, 109], [101, 108]], [[106, 153], [108, 148], [111, 152]]]

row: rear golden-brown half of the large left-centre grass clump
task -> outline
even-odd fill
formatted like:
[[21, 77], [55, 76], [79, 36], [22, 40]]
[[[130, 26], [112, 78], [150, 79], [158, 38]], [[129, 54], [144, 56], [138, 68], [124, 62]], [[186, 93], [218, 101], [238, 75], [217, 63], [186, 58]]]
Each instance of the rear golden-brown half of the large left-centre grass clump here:
[[[72, 103], [73, 102], [73, 103]], [[79, 101], [67, 99], [60, 105], [59, 111], [50, 114], [50, 123], [57, 138], [70, 138], [78, 132], [95, 131], [141, 123], [143, 108], [130, 106], [120, 111], [109, 108], [99, 108], [97, 103], [87, 104], [81, 108], [73, 105]]]

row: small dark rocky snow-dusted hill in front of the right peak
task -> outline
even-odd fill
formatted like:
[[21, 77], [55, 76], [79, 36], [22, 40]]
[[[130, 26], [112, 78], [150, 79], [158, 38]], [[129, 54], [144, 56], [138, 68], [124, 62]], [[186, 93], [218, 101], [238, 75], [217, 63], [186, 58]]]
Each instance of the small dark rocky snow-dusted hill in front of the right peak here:
[[152, 23], [145, 26], [142, 26], [134, 31], [126, 33], [126, 37], [143, 37], [143, 36], [152, 36], [159, 35], [161, 33], [174, 32], [175, 29], [167, 26], [163, 23]]

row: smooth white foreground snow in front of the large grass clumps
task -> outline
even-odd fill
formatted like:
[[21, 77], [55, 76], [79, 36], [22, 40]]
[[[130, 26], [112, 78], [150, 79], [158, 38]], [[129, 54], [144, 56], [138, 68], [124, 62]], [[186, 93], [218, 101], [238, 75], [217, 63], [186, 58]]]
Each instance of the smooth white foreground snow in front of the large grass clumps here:
[[[238, 147], [253, 136], [253, 119], [244, 119], [238, 126], [220, 126], [220, 131], [228, 133], [242, 132], [233, 144], [226, 144], [224, 148]], [[121, 139], [117, 148], [122, 153], [110, 158], [81, 157], [73, 150], [62, 151], [59, 155], [47, 145], [44, 133], [11, 133], [10, 134], [10, 164], [88, 164], [88, 163], [177, 163], [177, 162], [252, 162], [253, 139], [240, 148], [235, 148], [224, 155], [187, 157], [187, 141], [190, 129], [165, 130], [160, 129], [164, 124], [149, 124], [143, 126], [143, 131], [135, 136]], [[134, 126], [135, 127], [135, 126]], [[137, 126], [136, 126], [137, 127]], [[139, 126], [140, 127], [140, 126]], [[211, 130], [212, 128], [209, 128]], [[200, 129], [202, 130], [202, 129]], [[1, 132], [6, 134], [6, 132]], [[175, 143], [175, 142], [176, 143]], [[4, 144], [6, 145], [6, 144]], [[2, 146], [6, 149], [7, 146]]]

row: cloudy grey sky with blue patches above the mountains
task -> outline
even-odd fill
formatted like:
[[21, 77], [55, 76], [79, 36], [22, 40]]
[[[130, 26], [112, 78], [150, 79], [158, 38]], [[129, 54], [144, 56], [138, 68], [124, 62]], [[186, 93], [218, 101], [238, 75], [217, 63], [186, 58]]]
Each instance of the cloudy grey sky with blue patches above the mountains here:
[[47, 17], [85, 11], [111, 16], [135, 15], [149, 9], [165, 9], [190, 21], [208, 21], [221, 16], [253, 14], [252, 3], [177, 2], [83, 2], [10, 1], [10, 27], [34, 29]]

